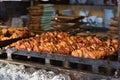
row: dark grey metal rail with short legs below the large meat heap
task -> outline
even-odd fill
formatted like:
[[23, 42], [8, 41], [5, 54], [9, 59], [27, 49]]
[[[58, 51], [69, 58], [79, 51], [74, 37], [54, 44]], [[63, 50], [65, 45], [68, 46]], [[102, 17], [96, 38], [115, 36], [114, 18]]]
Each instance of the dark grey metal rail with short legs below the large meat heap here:
[[[115, 69], [114, 72], [117, 71], [119, 73], [120, 70], [120, 62], [118, 61], [109, 61], [109, 60], [96, 60], [96, 59], [89, 59], [89, 58], [80, 58], [80, 57], [74, 57], [74, 56], [66, 56], [66, 55], [59, 55], [59, 54], [51, 54], [47, 52], [29, 52], [27, 50], [16, 50], [14, 48], [8, 48], [6, 50], [7, 53], [7, 59], [13, 60], [12, 55], [21, 55], [21, 56], [31, 56], [34, 58], [42, 58], [45, 60], [45, 64], [51, 65], [50, 60], [55, 61], [61, 61], [63, 62], [63, 68], [70, 69], [71, 66], [70, 63], [76, 63], [76, 64], [82, 64], [82, 65], [90, 65], [91, 66], [91, 72], [95, 74], [101, 74], [100, 73], [100, 67], [106, 69], [106, 73], [108, 75], [111, 74], [112, 69]], [[79, 67], [79, 66], [78, 66]], [[87, 71], [87, 70], [85, 70]]]

